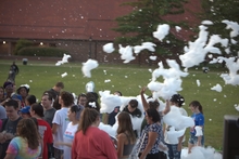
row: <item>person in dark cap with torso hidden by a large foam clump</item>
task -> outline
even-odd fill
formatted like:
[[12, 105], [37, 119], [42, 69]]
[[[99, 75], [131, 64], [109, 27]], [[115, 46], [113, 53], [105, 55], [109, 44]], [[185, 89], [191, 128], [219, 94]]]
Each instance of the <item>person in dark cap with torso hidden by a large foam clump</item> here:
[[[171, 97], [171, 106], [178, 107], [180, 110], [180, 114], [183, 116], [188, 117], [187, 111], [181, 107], [184, 103], [185, 103], [185, 98], [180, 94], [174, 94]], [[168, 147], [168, 157], [169, 159], [180, 159], [181, 147], [185, 141], [185, 135], [178, 137], [177, 143], [171, 143], [167, 136], [167, 131], [169, 131], [169, 128], [171, 125], [165, 125], [165, 132], [164, 132], [164, 142]]]

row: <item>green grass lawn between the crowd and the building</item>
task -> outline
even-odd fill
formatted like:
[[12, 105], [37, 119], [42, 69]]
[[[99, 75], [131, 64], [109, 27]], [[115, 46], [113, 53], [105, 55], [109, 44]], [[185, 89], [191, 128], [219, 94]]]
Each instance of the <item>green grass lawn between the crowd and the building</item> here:
[[[0, 61], [0, 82], [3, 84], [8, 78], [9, 67], [12, 61]], [[30, 94], [34, 94], [39, 100], [43, 91], [49, 90], [58, 81], [63, 81], [66, 91], [79, 94], [85, 92], [85, 84], [93, 81], [96, 91], [111, 90], [122, 91], [124, 96], [136, 96], [139, 94], [140, 87], [147, 85], [151, 78], [148, 66], [137, 65], [100, 65], [91, 71], [91, 78], [85, 78], [81, 74], [81, 63], [64, 64], [54, 66], [54, 62], [28, 62], [23, 65], [22, 62], [16, 62], [20, 67], [20, 74], [16, 76], [16, 84], [29, 84]], [[67, 72], [67, 76], [62, 78], [61, 75]], [[234, 107], [239, 104], [238, 92], [239, 88], [230, 84], [225, 84], [219, 75], [223, 70], [213, 69], [209, 74], [203, 74], [200, 69], [189, 69], [189, 76], [183, 78], [183, 91], [179, 92], [186, 100], [185, 109], [191, 115], [188, 109], [188, 104], [198, 100], [202, 106], [205, 116], [205, 145], [211, 145], [217, 150], [222, 149], [223, 145], [223, 125], [224, 115], [237, 115]], [[104, 80], [110, 79], [110, 82]], [[200, 80], [201, 85], [197, 85], [197, 80]], [[211, 88], [219, 83], [223, 91], [212, 91]], [[148, 94], [150, 92], [147, 92]]]

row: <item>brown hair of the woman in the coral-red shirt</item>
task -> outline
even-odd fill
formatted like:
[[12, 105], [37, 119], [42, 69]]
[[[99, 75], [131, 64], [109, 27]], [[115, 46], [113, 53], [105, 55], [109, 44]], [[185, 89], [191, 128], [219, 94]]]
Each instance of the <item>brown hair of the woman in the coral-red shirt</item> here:
[[80, 115], [79, 127], [77, 132], [83, 131], [86, 134], [87, 129], [100, 118], [100, 114], [92, 108], [85, 108]]

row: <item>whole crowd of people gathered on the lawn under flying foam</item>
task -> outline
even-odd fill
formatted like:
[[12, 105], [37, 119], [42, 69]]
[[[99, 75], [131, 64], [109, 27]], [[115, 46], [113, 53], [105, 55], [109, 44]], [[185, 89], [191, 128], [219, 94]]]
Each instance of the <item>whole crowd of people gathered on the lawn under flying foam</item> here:
[[[14, 82], [5, 81], [0, 87], [1, 159], [180, 159], [185, 134], [172, 142], [167, 135], [172, 125], [163, 121], [172, 106], [188, 116], [180, 94], [166, 100], [165, 108], [160, 109], [160, 101], [151, 95], [146, 98], [147, 88], [142, 88], [143, 110], [134, 98], [122, 110], [116, 106], [102, 115], [96, 92], [81, 93], [74, 102], [73, 94], [63, 89], [63, 82], [56, 82], [37, 102], [26, 84], [16, 89]], [[122, 93], [115, 91], [114, 95]], [[188, 153], [204, 144], [202, 105], [192, 101], [189, 107], [194, 127], [190, 128]], [[134, 130], [134, 118], [143, 118], [139, 132]], [[99, 129], [100, 122], [110, 127], [117, 123], [116, 136]], [[198, 133], [196, 127], [202, 132]]]

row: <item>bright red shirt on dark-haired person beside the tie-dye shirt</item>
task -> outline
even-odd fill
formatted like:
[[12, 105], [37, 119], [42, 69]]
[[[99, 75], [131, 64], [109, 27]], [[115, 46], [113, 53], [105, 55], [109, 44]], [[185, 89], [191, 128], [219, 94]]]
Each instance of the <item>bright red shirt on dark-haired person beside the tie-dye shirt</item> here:
[[43, 138], [43, 154], [42, 154], [42, 159], [48, 159], [48, 145], [53, 142], [52, 133], [51, 133], [51, 127], [50, 124], [42, 120], [42, 119], [37, 119], [38, 122], [38, 131]]

